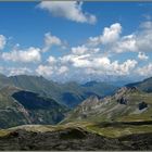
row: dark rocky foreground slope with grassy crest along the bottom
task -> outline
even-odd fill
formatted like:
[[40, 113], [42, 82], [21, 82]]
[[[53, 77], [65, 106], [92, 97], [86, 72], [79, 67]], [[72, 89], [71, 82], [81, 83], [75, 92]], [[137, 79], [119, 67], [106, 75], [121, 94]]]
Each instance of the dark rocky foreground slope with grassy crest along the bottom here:
[[150, 131], [111, 137], [105, 131], [112, 129], [99, 131], [92, 127], [92, 124], [71, 123], [0, 130], [0, 150], [152, 150]]

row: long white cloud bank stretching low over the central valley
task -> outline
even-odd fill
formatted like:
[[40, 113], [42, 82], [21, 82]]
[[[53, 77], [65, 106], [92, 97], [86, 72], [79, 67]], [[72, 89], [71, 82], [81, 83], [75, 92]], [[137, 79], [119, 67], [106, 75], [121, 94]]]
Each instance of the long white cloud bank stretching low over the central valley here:
[[[39, 75], [51, 77], [54, 79], [66, 78], [73, 80], [86, 80], [90, 77], [98, 77], [103, 80], [103, 76], [126, 76], [132, 73], [136, 65], [136, 60], [126, 60], [121, 63], [117, 60], [112, 61], [102, 54], [71, 54], [53, 58], [53, 64], [39, 65], [36, 72]], [[55, 62], [54, 62], [55, 61]], [[79, 76], [78, 76], [79, 75]], [[81, 77], [81, 78], [79, 78]], [[67, 80], [66, 79], [66, 80]]]

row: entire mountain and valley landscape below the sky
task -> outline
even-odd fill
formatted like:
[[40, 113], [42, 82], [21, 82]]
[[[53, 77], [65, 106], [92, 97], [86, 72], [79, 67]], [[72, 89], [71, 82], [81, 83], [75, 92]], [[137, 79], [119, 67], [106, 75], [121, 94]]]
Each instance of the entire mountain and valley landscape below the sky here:
[[[50, 86], [35, 76], [2, 83], [5, 78], [0, 83], [0, 150], [152, 150], [152, 78], [121, 88], [96, 81]], [[23, 84], [26, 79], [30, 83]], [[63, 86], [73, 96], [60, 101], [54, 93]], [[87, 96], [80, 96], [81, 87]]]

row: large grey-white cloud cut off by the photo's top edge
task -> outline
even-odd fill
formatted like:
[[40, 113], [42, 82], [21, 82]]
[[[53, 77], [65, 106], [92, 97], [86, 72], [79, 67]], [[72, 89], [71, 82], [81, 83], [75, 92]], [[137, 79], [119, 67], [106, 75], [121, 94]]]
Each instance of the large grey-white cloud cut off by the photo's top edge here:
[[83, 12], [83, 2], [77, 1], [42, 1], [39, 8], [49, 11], [53, 16], [65, 17], [79, 23], [94, 24], [94, 15]]

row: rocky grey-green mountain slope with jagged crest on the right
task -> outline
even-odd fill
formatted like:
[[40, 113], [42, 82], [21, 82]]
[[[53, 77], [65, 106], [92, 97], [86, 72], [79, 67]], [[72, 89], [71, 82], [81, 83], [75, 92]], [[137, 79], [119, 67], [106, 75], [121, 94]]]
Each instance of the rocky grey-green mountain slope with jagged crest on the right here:
[[123, 87], [103, 99], [92, 96], [72, 110], [64, 122], [134, 122], [152, 119], [152, 93]]

